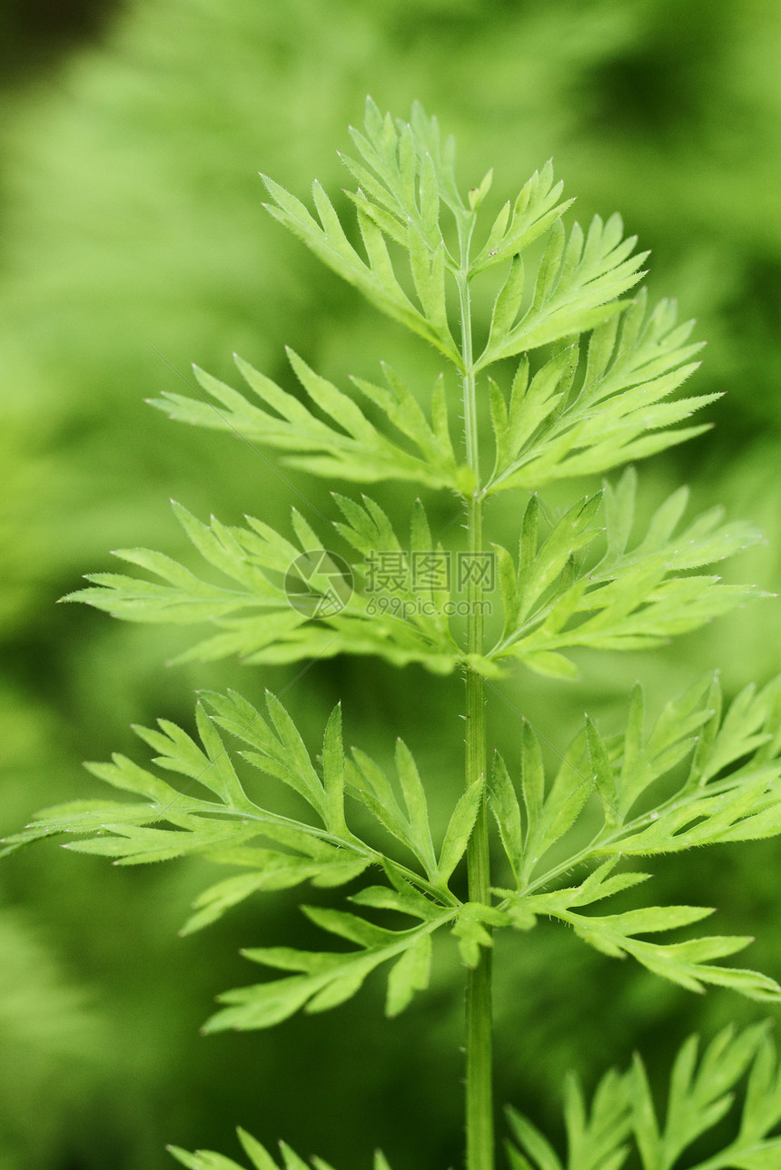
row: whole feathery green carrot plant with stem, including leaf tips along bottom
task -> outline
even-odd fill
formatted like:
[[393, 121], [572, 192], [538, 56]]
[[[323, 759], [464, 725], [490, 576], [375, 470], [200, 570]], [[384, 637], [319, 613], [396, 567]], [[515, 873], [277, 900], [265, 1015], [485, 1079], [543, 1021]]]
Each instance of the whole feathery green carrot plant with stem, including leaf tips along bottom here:
[[[370, 495], [335, 494], [333, 523], [318, 510], [311, 523], [294, 510], [285, 535], [255, 518], [245, 526], [205, 524], [176, 505], [192, 544], [225, 584], [160, 552], [131, 549], [117, 555], [152, 580], [96, 574], [70, 599], [132, 621], [206, 624], [207, 636], [189, 652], [200, 659], [238, 654], [263, 666], [374, 654], [399, 669], [460, 672], [465, 787], [446, 831], [432, 831], [431, 779], [419, 775], [403, 741], [396, 742], [395, 776], [358, 749], [345, 755], [337, 707], [314, 755], [274, 695], [258, 710], [228, 691], [201, 696], [198, 739], [166, 720], [137, 729], [157, 771], [122, 756], [90, 765], [135, 800], [49, 808], [11, 838], [6, 852], [70, 833], [69, 848], [121, 865], [196, 854], [235, 870], [197, 899], [186, 931], [259, 892], [349, 883], [349, 909], [303, 908], [328, 936], [323, 950], [245, 951], [282, 973], [224, 993], [210, 1032], [266, 1028], [299, 1011], [337, 1009], [381, 968], [386, 1013], [397, 1016], [426, 991], [433, 936], [450, 935], [452, 959], [466, 969], [466, 1165], [492, 1170], [495, 931], [529, 932], [540, 917], [553, 918], [583, 943], [692, 991], [713, 984], [760, 1002], [781, 999], [767, 975], [719, 962], [749, 938], [688, 931], [669, 941], [667, 931], [701, 922], [710, 909], [642, 900], [630, 910], [611, 906], [649, 878], [630, 859], [781, 831], [781, 679], [744, 690], [726, 710], [715, 675], [658, 713], [646, 714], [637, 686], [624, 732], [604, 735], [587, 718], [562, 745], [554, 775], [546, 776], [539, 736], [526, 720], [520, 768], [496, 753], [488, 762], [486, 701], [511, 672], [525, 668], [566, 684], [578, 648], [653, 647], [729, 611], [753, 590], [724, 584], [707, 566], [758, 534], [725, 524], [720, 509], [684, 519], [685, 489], [637, 531], [632, 464], [706, 429], [687, 420], [715, 395], [677, 395], [699, 345], [688, 339], [691, 324], [676, 323], [671, 303], [649, 308], [637, 291], [646, 254], [623, 239], [617, 215], [567, 232], [568, 202], [548, 164], [484, 223], [492, 172], [465, 200], [452, 139], [443, 142], [419, 106], [405, 124], [383, 118], [369, 102], [364, 130], [352, 139], [356, 157], [344, 163], [357, 184], [350, 199], [358, 247], [318, 184], [317, 219], [272, 179], [268, 211], [439, 352], [447, 372], [426, 407], [422, 388], [391, 367], [383, 366], [382, 380], [356, 378], [345, 391], [293, 351], [299, 393], [237, 359], [248, 391], [197, 371], [203, 394], [165, 394], [155, 405], [280, 450], [288, 464], [329, 481], [392, 480], [399, 491], [445, 493], [463, 509], [464, 526], [454, 529], [465, 531], [461, 544], [436, 539], [419, 500], [409, 535], [395, 530]], [[541, 259], [529, 276], [535, 242], [532, 255]], [[479, 337], [473, 295], [491, 282], [491, 324]], [[457, 421], [463, 434], [454, 441]], [[542, 489], [621, 468], [602, 490], [575, 493], [548, 518]], [[505, 493], [518, 500], [516, 550], [485, 531], [487, 501]], [[331, 550], [336, 534], [351, 553]], [[263, 778], [245, 776], [247, 765]], [[273, 782], [297, 794], [306, 815], [274, 811]], [[337, 948], [329, 945], [334, 938]], [[699, 1155], [691, 1154], [688, 1164], [777, 1166], [781, 1074], [766, 1031], [727, 1030], [699, 1058], [697, 1040], [687, 1041], [664, 1117], [639, 1058], [629, 1072], [608, 1073], [590, 1101], [569, 1081], [568, 1170], [617, 1170], [628, 1157], [643, 1170], [670, 1170], [727, 1113], [745, 1075], [735, 1136], [704, 1159], [692, 1163]], [[508, 1117], [513, 1170], [562, 1170], [532, 1121], [512, 1110]], [[240, 1137], [256, 1170], [274, 1170], [259, 1142]], [[213, 1152], [172, 1152], [191, 1170], [237, 1166]], [[304, 1170], [286, 1145], [281, 1158], [285, 1170]], [[384, 1170], [382, 1155], [376, 1164]]]

